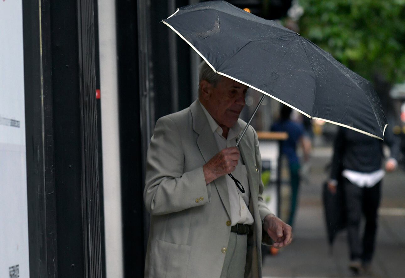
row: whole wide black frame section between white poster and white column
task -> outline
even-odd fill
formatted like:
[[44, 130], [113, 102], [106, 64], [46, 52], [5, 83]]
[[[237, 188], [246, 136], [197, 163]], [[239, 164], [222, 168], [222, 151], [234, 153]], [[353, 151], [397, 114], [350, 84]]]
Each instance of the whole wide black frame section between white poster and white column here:
[[102, 277], [93, 1], [23, 1], [31, 277]]

